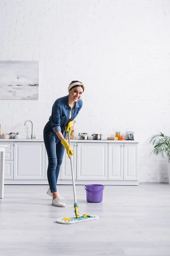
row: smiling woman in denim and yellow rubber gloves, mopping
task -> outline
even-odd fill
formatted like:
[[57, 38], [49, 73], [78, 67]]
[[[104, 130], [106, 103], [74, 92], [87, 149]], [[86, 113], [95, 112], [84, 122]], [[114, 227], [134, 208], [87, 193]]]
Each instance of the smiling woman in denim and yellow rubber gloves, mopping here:
[[81, 97], [84, 89], [84, 84], [79, 81], [72, 81], [69, 84], [68, 96], [59, 98], [54, 102], [51, 116], [43, 131], [48, 155], [47, 177], [50, 186], [47, 194], [53, 197], [52, 205], [57, 207], [65, 207], [64, 198], [60, 197], [57, 192], [56, 184], [65, 149], [69, 158], [70, 155], [74, 154], [65, 138], [68, 129], [71, 133], [72, 122], [82, 108]]

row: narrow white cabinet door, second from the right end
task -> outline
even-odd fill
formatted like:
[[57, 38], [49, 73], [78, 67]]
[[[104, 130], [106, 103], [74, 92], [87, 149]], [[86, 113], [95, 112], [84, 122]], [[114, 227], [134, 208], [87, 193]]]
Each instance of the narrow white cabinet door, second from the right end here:
[[108, 143], [108, 180], [123, 180], [123, 143]]

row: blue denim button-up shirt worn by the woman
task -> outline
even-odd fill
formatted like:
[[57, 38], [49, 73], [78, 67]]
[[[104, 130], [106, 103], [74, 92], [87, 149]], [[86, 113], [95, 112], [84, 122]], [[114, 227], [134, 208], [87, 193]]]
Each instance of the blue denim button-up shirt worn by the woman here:
[[76, 102], [74, 108], [72, 109], [71, 119], [69, 119], [71, 107], [68, 105], [68, 96], [57, 99], [54, 102], [54, 105], [52, 107], [52, 113], [49, 118], [53, 131], [61, 131], [62, 135], [66, 137], [65, 126], [68, 124], [69, 121], [73, 121], [76, 118], [81, 108], [82, 100], [79, 99]]

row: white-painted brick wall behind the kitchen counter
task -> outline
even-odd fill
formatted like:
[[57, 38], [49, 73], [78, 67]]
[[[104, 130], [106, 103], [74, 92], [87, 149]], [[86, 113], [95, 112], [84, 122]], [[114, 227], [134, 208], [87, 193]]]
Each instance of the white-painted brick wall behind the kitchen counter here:
[[37, 137], [68, 84], [85, 84], [76, 132], [135, 131], [140, 182], [166, 182], [151, 135], [170, 135], [170, 1], [1, 0], [0, 60], [40, 61], [40, 99], [0, 100], [2, 133]]

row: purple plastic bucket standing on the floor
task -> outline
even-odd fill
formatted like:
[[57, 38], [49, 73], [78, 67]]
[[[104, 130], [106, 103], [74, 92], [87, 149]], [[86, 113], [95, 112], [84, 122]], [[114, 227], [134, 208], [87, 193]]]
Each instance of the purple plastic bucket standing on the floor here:
[[99, 184], [85, 185], [86, 200], [90, 203], [100, 203], [103, 199], [105, 186]]

